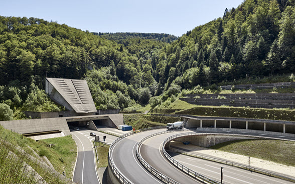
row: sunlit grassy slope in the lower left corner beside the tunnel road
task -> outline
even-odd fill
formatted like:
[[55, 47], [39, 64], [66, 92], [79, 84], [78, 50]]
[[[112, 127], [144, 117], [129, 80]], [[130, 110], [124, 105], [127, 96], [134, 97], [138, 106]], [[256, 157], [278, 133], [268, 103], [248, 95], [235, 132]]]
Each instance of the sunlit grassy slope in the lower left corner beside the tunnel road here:
[[[2, 146], [0, 146], [1, 148], [3, 148], [2, 151], [6, 152], [6, 150], [10, 150], [14, 152], [18, 157], [23, 159], [22, 161], [26, 161], [26, 163], [32, 166], [43, 178], [46, 178], [46, 181], [48, 183], [63, 183], [63, 181], [59, 180], [56, 176], [52, 175], [52, 173], [48, 173], [46, 170], [40, 167], [40, 165], [38, 165], [36, 162], [25, 158], [21, 153], [17, 151], [16, 146], [20, 146], [28, 154], [37, 158], [37, 156], [33, 153], [33, 151], [28, 147], [29, 145], [40, 156], [45, 155], [51, 161], [51, 163], [53, 164], [54, 168], [57, 171], [62, 172], [63, 170], [66, 170], [67, 177], [68, 178], [72, 177], [72, 170], [73, 170], [72, 163], [76, 160], [77, 148], [71, 136], [45, 139], [45, 140], [40, 140], [36, 142], [35, 140], [31, 138], [27, 138], [18, 133], [11, 132], [7, 129], [4, 129], [2, 126], [0, 126], [0, 140], [7, 141], [13, 145], [13, 146], [3, 146], [5, 145], [3, 144]], [[50, 148], [46, 142], [55, 143], [56, 146]], [[0, 160], [0, 165], [4, 168], [11, 167], [12, 165], [10, 164], [11, 163], [7, 163], [4, 160]], [[18, 174], [18, 173], [16, 172], [15, 174]], [[17, 177], [17, 175], [11, 176], [11, 177]], [[26, 178], [29, 176], [23, 175], [23, 177]], [[19, 181], [16, 181], [16, 182], [19, 182]], [[15, 182], [11, 182], [11, 183], [15, 183]]]

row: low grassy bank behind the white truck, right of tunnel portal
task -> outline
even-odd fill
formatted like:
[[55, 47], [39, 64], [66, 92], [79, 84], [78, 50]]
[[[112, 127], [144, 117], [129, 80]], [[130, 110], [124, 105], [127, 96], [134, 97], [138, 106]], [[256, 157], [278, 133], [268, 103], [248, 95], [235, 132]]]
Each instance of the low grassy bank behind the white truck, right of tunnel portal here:
[[144, 115], [144, 114], [124, 114], [125, 124], [132, 125], [135, 129], [142, 129], [154, 126], [164, 126], [167, 123], [180, 121], [179, 117]]

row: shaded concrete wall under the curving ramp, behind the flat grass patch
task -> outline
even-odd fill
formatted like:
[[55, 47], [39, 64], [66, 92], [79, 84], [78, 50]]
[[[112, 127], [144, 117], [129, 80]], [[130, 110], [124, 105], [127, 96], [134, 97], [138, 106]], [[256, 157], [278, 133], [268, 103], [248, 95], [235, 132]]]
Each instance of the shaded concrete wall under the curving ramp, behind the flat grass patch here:
[[175, 141], [190, 141], [190, 143], [194, 145], [210, 147], [218, 143], [239, 139], [251, 139], [251, 137], [231, 135], [190, 135], [177, 138]]

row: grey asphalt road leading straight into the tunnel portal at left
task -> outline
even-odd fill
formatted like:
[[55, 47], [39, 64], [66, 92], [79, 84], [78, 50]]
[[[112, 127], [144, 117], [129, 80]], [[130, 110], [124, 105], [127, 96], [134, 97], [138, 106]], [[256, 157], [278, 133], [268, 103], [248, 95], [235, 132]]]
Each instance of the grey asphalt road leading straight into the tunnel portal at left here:
[[78, 156], [73, 174], [73, 181], [80, 184], [100, 183], [96, 172], [96, 158], [93, 152], [95, 150], [91, 143], [95, 138], [94, 136], [89, 135], [90, 132], [95, 132], [96, 135], [99, 135], [100, 140], [103, 140], [103, 135], [106, 135], [105, 142], [107, 143], [111, 143], [117, 138], [113, 135], [85, 128], [80, 128], [80, 130], [77, 131], [71, 129], [73, 139], [76, 141], [78, 147]]

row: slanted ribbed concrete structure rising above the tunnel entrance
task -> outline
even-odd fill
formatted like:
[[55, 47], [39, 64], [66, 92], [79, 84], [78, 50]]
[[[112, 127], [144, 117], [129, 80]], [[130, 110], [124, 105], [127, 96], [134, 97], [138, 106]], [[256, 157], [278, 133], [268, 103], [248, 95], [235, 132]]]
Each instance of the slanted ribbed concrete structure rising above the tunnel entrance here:
[[86, 80], [46, 78], [46, 92], [54, 101], [77, 113], [96, 112]]

